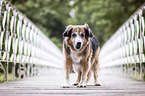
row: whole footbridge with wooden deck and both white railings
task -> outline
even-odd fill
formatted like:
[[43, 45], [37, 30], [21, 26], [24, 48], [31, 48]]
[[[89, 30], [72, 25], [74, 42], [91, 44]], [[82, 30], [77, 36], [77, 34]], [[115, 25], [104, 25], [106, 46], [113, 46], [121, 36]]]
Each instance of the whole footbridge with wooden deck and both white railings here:
[[[145, 96], [145, 4], [104, 44], [102, 86], [61, 88], [62, 52], [25, 15], [0, 1], [0, 96]], [[71, 74], [71, 84], [76, 75]]]

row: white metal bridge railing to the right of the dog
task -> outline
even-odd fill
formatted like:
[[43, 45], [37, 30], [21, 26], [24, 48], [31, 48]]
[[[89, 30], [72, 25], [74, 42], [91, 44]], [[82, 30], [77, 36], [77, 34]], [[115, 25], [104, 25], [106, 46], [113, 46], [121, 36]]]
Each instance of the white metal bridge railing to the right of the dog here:
[[124, 73], [145, 75], [145, 3], [104, 44], [100, 68], [122, 66]]

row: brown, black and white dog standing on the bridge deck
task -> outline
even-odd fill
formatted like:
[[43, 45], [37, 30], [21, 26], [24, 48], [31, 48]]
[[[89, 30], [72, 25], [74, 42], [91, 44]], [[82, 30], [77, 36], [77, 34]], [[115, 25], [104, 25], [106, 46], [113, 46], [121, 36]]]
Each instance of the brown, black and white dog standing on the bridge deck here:
[[93, 72], [95, 86], [100, 86], [97, 80], [100, 47], [88, 24], [67, 26], [63, 39], [65, 82], [62, 87], [69, 88], [72, 69], [77, 73], [74, 85], [86, 87]]

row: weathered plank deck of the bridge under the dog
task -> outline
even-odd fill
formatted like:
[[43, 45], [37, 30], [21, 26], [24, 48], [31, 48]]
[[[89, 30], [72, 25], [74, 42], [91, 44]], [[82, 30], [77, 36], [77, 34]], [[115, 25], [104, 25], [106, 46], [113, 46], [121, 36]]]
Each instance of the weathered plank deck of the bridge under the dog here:
[[[75, 74], [71, 74], [71, 84]], [[100, 73], [102, 86], [61, 88], [62, 71], [50, 69], [48, 75], [0, 84], [0, 96], [145, 96], [145, 82], [128, 77]]]

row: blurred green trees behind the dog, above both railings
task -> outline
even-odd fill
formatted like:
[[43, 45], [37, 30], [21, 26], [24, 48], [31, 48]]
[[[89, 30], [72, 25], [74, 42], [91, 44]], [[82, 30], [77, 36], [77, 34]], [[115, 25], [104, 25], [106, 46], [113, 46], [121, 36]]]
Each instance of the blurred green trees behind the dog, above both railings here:
[[67, 25], [88, 23], [102, 46], [144, 0], [9, 0], [62, 49]]

